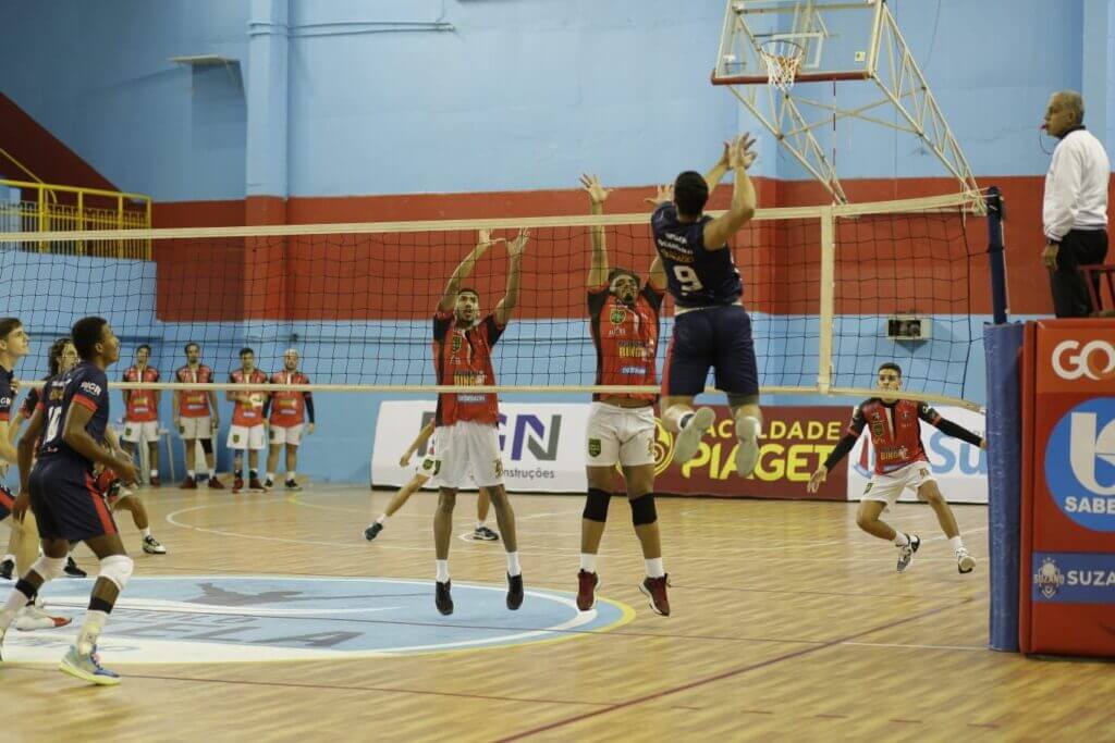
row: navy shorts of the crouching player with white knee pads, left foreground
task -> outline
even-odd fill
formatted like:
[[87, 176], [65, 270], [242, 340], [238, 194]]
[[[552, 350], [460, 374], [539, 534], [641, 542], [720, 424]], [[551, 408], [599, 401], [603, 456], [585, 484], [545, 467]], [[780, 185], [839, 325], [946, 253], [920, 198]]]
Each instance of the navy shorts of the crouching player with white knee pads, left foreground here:
[[117, 534], [113, 512], [93, 472], [68, 459], [40, 459], [28, 480], [31, 510], [43, 539], [84, 541]]

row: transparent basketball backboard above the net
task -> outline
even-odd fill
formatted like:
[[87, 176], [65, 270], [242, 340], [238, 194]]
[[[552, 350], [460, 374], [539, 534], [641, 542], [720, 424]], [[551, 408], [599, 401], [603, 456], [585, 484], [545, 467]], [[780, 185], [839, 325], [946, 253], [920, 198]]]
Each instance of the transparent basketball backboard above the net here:
[[764, 51], [799, 56], [796, 80], [866, 80], [883, 0], [729, 0], [712, 82], [767, 82]]

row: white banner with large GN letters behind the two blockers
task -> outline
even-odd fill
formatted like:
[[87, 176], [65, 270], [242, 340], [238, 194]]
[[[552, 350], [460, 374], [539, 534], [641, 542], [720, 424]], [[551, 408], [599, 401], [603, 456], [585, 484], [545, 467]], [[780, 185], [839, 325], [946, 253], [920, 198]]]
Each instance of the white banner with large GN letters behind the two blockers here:
[[[379, 405], [371, 456], [372, 485], [399, 487], [414, 476], [419, 450], [408, 467], [401, 457], [427, 421], [434, 402], [386, 401]], [[584, 492], [584, 428], [589, 405], [500, 403], [503, 479], [512, 492]]]

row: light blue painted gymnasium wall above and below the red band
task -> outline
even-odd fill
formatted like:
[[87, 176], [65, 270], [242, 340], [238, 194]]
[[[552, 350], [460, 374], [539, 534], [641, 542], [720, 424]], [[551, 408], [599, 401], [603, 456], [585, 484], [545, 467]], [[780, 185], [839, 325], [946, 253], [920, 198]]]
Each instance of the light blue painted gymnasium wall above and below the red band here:
[[[1115, 141], [1115, 0], [895, 0], [891, 7], [978, 175], [1045, 172], [1035, 129], [1058, 88], [1083, 89], [1093, 129]], [[610, 184], [642, 185], [679, 164], [710, 163], [717, 141], [756, 128], [726, 91], [707, 85], [723, 10], [720, 0], [687, 2], [683, 16], [673, 0], [17, 3], [0, 25], [0, 87], [109, 180], [161, 202], [564, 188], [585, 169]], [[280, 59], [268, 46], [275, 29], [269, 23], [284, 17], [290, 40]], [[429, 30], [436, 22], [453, 30]], [[234, 63], [167, 61], [184, 55]], [[840, 91], [842, 104], [857, 95], [849, 86]], [[768, 139], [758, 174], [804, 177]], [[835, 143], [849, 177], [940, 174], [935, 162], [885, 131], [842, 126]], [[79, 263], [88, 271], [88, 261]], [[9, 296], [35, 297], [12, 312], [32, 330], [54, 333], [69, 317], [45, 297], [65, 293], [65, 282], [74, 281], [65, 276], [80, 266], [49, 265], [55, 283]], [[126, 359], [135, 344], [161, 340], [153, 343], [155, 361], [166, 372], [181, 363], [182, 343], [196, 336], [206, 340], [220, 375], [243, 343], [256, 346], [262, 368], [278, 368], [288, 333], [298, 329], [159, 324], [138, 299], [151, 296], [151, 270], [94, 268], [120, 282], [98, 291], [101, 310], [127, 325]], [[120, 297], [138, 304], [117, 309]], [[972, 319], [977, 336], [983, 320]], [[954, 325], [942, 319], [934, 330]], [[414, 332], [424, 336], [426, 327]], [[785, 340], [776, 346], [759, 343], [765, 381], [807, 383], [815, 370], [792, 366], [798, 354], [808, 356], [815, 332], [777, 333]], [[405, 353], [398, 344], [382, 353], [374, 342], [295, 345], [311, 374], [357, 354], [367, 364], [425, 353], [424, 344]], [[838, 350], [838, 382], [870, 381], [863, 374], [893, 348], [879, 346]], [[957, 348], [938, 339], [909, 351], [932, 359], [919, 362], [927, 369], [949, 360], [951, 382], [963, 377], [969, 395], [982, 399], [981, 346], [967, 360], [953, 359]], [[775, 366], [779, 359], [785, 363]], [[506, 359], [500, 363], [503, 381], [526, 381], [515, 379]], [[429, 381], [425, 358], [405, 365], [423, 375], [407, 381]], [[589, 379], [583, 364], [569, 374], [571, 382]], [[361, 479], [379, 400], [321, 395], [324, 426], [304, 448], [303, 469], [314, 478]]]

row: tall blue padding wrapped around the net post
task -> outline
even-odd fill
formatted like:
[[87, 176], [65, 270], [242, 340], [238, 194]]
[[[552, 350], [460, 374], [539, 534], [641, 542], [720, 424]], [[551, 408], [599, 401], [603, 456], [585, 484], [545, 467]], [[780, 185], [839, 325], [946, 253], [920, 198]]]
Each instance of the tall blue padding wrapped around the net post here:
[[988, 555], [991, 649], [1018, 652], [1021, 510], [1021, 323], [983, 329], [987, 352]]

